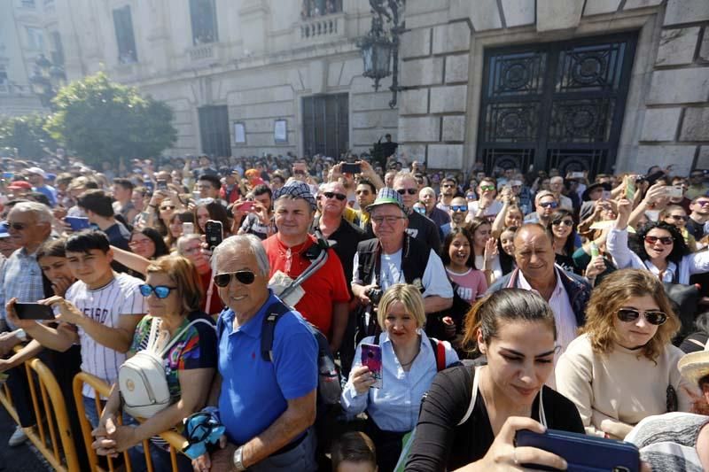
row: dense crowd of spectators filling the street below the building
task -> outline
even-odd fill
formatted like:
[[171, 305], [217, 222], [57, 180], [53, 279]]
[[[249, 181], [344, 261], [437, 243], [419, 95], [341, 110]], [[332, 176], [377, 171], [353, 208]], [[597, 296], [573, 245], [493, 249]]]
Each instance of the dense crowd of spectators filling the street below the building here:
[[111, 385], [82, 391], [90, 447], [134, 470], [144, 440], [171, 469], [160, 433], [197, 427], [216, 438], [197, 435], [179, 470], [564, 469], [516, 446], [547, 428], [630, 441], [645, 469], [709, 468], [701, 169], [464, 175], [289, 154], [0, 171], [11, 446], [43, 421], [22, 368], [38, 357], [74, 437], [74, 375]]

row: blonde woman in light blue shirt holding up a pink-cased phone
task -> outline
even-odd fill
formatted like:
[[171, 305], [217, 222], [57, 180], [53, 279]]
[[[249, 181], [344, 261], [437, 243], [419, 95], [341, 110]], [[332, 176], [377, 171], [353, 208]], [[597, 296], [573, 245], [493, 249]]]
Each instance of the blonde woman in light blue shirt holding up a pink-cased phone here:
[[[357, 346], [341, 404], [350, 417], [367, 411], [366, 432], [377, 445], [379, 471], [387, 472], [396, 466], [402, 437], [416, 426], [421, 397], [439, 370], [437, 364], [449, 366], [458, 356], [447, 342], [426, 337], [424, 299], [413, 285], [397, 283], [386, 290], [377, 316], [382, 333]], [[381, 354], [379, 388], [373, 387], [376, 373], [362, 366], [363, 344], [379, 348], [371, 348]]]

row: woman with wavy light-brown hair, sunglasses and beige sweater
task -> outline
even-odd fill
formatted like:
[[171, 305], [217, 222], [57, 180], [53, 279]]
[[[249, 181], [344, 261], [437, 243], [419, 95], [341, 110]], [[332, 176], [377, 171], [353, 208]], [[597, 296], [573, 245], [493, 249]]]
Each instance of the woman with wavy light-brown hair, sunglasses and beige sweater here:
[[557, 391], [576, 404], [588, 434], [623, 439], [646, 416], [690, 410], [693, 387], [672, 344], [679, 328], [647, 270], [619, 270], [596, 287], [582, 334], [556, 368]]

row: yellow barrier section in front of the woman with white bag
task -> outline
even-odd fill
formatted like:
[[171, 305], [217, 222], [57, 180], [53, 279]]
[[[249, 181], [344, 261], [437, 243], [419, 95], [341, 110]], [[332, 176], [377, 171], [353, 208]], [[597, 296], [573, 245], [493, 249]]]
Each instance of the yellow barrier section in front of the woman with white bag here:
[[[87, 374], [86, 372], [80, 372], [79, 374], [74, 376], [74, 401], [76, 402], [76, 409], [79, 412], [79, 421], [82, 423], [82, 435], [84, 445], [86, 446], [86, 453], [89, 456], [89, 463], [92, 472], [101, 472], [104, 469], [98, 466], [97, 454], [94, 451], [93, 447], [91, 447], [91, 443], [93, 443], [94, 439], [91, 436], [91, 425], [89, 423], [89, 420], [86, 419], [86, 409], [83, 405], [82, 391], [84, 383], [89, 385], [94, 390], [94, 398], [96, 398], [96, 406], [98, 412], [103, 409], [100, 404], [99, 398], [107, 398], [108, 394], [111, 391], [111, 386], [105, 383], [103, 380], [99, 379], [97, 376]], [[136, 419], [139, 422], [143, 422], [143, 420], [141, 420], [140, 418]], [[122, 422], [120, 416], [118, 418], [118, 422], [119, 424]], [[175, 431], [162, 432], [160, 433], [160, 437], [162, 437], [170, 445], [170, 461], [172, 463], [172, 470], [175, 472], [177, 470], [177, 452], [182, 451], [183, 448], [188, 445], [188, 442], [184, 437], [177, 434]], [[143, 448], [145, 451], [145, 463], [147, 464], [148, 472], [154, 472], [152, 468], [152, 460], [150, 457], [149, 440], [145, 439], [143, 441]], [[125, 460], [125, 470], [127, 472], [132, 472], [128, 452], [123, 453], [123, 458]], [[107, 458], [107, 462], [109, 471], [113, 472], [113, 470], [115, 470], [113, 466], [113, 459]]]

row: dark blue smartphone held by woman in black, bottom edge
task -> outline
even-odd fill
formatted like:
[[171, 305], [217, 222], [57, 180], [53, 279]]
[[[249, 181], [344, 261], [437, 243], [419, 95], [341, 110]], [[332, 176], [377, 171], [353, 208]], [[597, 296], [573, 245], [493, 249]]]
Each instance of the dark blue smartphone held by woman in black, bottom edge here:
[[[547, 429], [543, 434], [520, 429], [515, 435], [516, 447], [535, 447], [563, 457], [570, 471], [638, 472], [640, 452], [633, 444], [604, 437], [587, 436], [557, 429]], [[526, 468], [546, 470], [533, 464]]]

